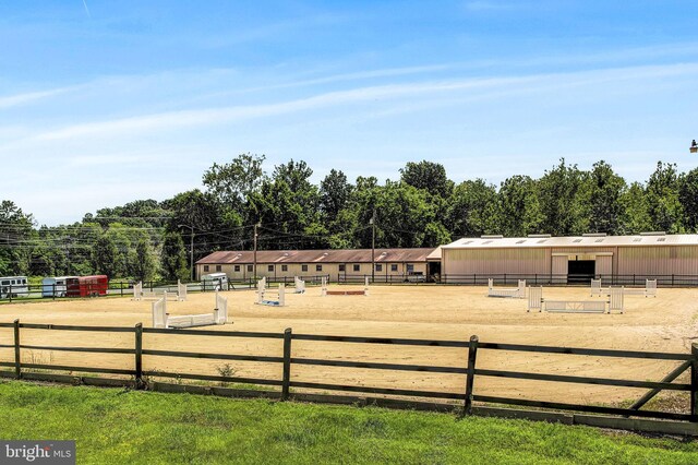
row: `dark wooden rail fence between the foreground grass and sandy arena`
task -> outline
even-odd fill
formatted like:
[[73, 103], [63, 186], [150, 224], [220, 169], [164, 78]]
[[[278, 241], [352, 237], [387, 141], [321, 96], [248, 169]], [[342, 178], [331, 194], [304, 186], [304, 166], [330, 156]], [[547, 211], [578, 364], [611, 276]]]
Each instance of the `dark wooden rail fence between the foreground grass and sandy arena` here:
[[[671, 353], [652, 353], [637, 350], [617, 350], [617, 349], [595, 349], [595, 348], [577, 348], [577, 347], [554, 347], [554, 346], [537, 346], [524, 344], [500, 344], [480, 342], [477, 336], [470, 337], [469, 341], [432, 341], [432, 339], [409, 339], [409, 338], [389, 338], [389, 337], [357, 337], [357, 336], [334, 336], [334, 335], [315, 335], [315, 334], [293, 334], [291, 329], [287, 329], [284, 333], [269, 332], [242, 332], [242, 331], [215, 331], [215, 330], [165, 330], [143, 327], [141, 323], [134, 327], [122, 326], [79, 326], [79, 325], [58, 325], [58, 324], [36, 324], [20, 323], [15, 320], [13, 323], [0, 323], [0, 329], [12, 329], [12, 344], [0, 344], [0, 348], [14, 349], [14, 361], [0, 361], [0, 367], [14, 368], [14, 378], [22, 379], [25, 374], [36, 373], [31, 370], [57, 370], [71, 372], [88, 372], [105, 373], [133, 377], [136, 389], [147, 386], [147, 378], [174, 378], [197, 381], [218, 381], [229, 383], [246, 383], [258, 385], [280, 386], [280, 398], [287, 400], [291, 396], [291, 388], [305, 390], [322, 391], [339, 391], [363, 394], [381, 394], [388, 396], [409, 396], [423, 398], [442, 398], [456, 400], [462, 403], [462, 412], [469, 415], [473, 412], [473, 402], [485, 404], [503, 404], [517, 405], [525, 407], [537, 407], [555, 410], [570, 410], [580, 413], [605, 414], [623, 417], [637, 418], [657, 418], [665, 420], [679, 420], [698, 422], [698, 344], [694, 344], [690, 354], [671, 354]], [[133, 333], [133, 348], [118, 347], [76, 347], [76, 346], [55, 346], [55, 345], [34, 345], [22, 344], [20, 338], [21, 330], [39, 330], [39, 331], [73, 331], [73, 332], [111, 332], [111, 333]], [[1, 333], [0, 333], [1, 334]], [[172, 337], [181, 336], [206, 336], [206, 337], [245, 337], [245, 338], [267, 338], [282, 339], [282, 354], [279, 356], [261, 356], [244, 354], [213, 354], [184, 350], [159, 350], [144, 347], [144, 334], [168, 334]], [[446, 367], [433, 365], [410, 365], [410, 363], [392, 363], [392, 362], [372, 362], [360, 360], [328, 360], [318, 358], [303, 358], [292, 356], [293, 341], [312, 341], [316, 343], [347, 343], [347, 344], [369, 344], [369, 345], [394, 345], [394, 346], [422, 346], [422, 347], [452, 347], [468, 349], [467, 355], [464, 354], [464, 366]], [[73, 351], [89, 354], [125, 354], [134, 356], [133, 369], [115, 369], [115, 368], [96, 368], [96, 367], [74, 367], [50, 363], [23, 363], [22, 350], [56, 350], [56, 351]], [[631, 358], [647, 360], [675, 360], [682, 363], [672, 372], [665, 375], [661, 381], [642, 381], [642, 380], [623, 380], [598, 377], [582, 377], [568, 374], [546, 374], [532, 373], [522, 371], [492, 370], [477, 367], [478, 351], [480, 350], [503, 350], [503, 351], [526, 351], [539, 354], [559, 354], [563, 356], [592, 356], [609, 358]], [[243, 378], [243, 377], [225, 377], [209, 375], [201, 373], [180, 373], [173, 371], [146, 370], [143, 368], [143, 356], [152, 357], [174, 357], [174, 358], [198, 358], [212, 360], [234, 360], [234, 361], [254, 361], [263, 363], [279, 363], [281, 366], [281, 379], [261, 379], [261, 378]], [[467, 357], [467, 358], [466, 358]], [[466, 375], [466, 384], [462, 392], [434, 392], [411, 389], [394, 389], [394, 388], [376, 388], [351, 384], [335, 384], [332, 382], [308, 382], [291, 379], [291, 369], [293, 366], [317, 366], [317, 367], [341, 367], [358, 368], [371, 370], [394, 370], [410, 372], [432, 372], [446, 374]], [[682, 373], [690, 370], [689, 383], [673, 382]], [[5, 372], [7, 373], [7, 372]], [[5, 375], [7, 377], [7, 375]], [[581, 405], [571, 403], [558, 403], [547, 401], [510, 398], [494, 395], [481, 395], [474, 392], [474, 380], [477, 377], [508, 378], [521, 380], [534, 380], [545, 382], [562, 383], [579, 383], [595, 384], [618, 388], [636, 388], [649, 390], [629, 408], [606, 407], [598, 405]], [[679, 391], [690, 394], [690, 412], [688, 414], [673, 412], [657, 412], [640, 409], [649, 400], [661, 391]]]

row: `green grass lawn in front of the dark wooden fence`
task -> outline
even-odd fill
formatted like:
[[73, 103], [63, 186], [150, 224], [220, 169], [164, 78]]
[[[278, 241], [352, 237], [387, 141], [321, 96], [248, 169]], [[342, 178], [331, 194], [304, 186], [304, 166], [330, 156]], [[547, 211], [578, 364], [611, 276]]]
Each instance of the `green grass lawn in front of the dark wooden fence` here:
[[0, 383], [0, 438], [77, 441], [77, 463], [698, 463], [698, 442], [381, 408]]

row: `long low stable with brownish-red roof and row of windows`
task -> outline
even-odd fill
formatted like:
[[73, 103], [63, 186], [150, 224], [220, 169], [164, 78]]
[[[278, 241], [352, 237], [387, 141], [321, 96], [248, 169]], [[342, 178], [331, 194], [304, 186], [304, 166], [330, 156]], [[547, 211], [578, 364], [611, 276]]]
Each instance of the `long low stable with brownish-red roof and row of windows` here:
[[[196, 276], [226, 273], [229, 279], [266, 276], [273, 279], [293, 276], [329, 276], [332, 281], [375, 276], [376, 281], [426, 281], [438, 273], [438, 262], [428, 261], [434, 249], [354, 250], [263, 250], [256, 262], [252, 251], [214, 252], [196, 262]], [[372, 271], [372, 262], [375, 270]]]

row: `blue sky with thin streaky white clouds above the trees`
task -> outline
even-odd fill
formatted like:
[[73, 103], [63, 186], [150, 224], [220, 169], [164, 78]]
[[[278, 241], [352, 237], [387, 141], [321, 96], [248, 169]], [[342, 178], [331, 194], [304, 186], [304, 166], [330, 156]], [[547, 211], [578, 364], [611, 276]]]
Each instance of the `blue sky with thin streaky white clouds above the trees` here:
[[697, 23], [694, 0], [2, 2], [0, 199], [72, 223], [246, 152], [315, 181], [687, 171]]

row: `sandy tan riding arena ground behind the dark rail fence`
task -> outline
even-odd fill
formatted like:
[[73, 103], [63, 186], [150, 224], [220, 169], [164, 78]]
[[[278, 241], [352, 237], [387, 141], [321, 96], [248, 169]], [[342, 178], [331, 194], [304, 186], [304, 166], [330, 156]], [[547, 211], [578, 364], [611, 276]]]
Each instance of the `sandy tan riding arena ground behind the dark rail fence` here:
[[[341, 288], [349, 288], [346, 286]], [[333, 287], [330, 287], [332, 289]], [[275, 289], [274, 289], [275, 290]], [[544, 288], [544, 298], [601, 300], [589, 288]], [[216, 330], [431, 338], [535, 344], [568, 347], [689, 353], [698, 338], [698, 290], [660, 288], [657, 298], [625, 297], [624, 314], [528, 313], [527, 299], [488, 298], [484, 287], [372, 286], [369, 296], [321, 297], [318, 287], [286, 295], [284, 308], [254, 305], [253, 290], [221, 293], [229, 321]], [[272, 291], [272, 295], [274, 293]], [[267, 296], [268, 298], [268, 296]], [[168, 302], [173, 314], [210, 312], [214, 294], [190, 294]], [[0, 306], [0, 321], [81, 325], [152, 325], [151, 302], [99, 298]], [[0, 344], [12, 344], [12, 330], [0, 329]], [[133, 347], [133, 334], [22, 330], [22, 344], [85, 347]], [[280, 356], [280, 339], [145, 334], [144, 348], [220, 354]], [[293, 357], [465, 367], [467, 349], [378, 346], [294, 341]], [[12, 349], [0, 360], [13, 361]], [[131, 369], [132, 355], [96, 355], [24, 350], [23, 361]], [[144, 357], [145, 370], [219, 374], [225, 362], [193, 358]], [[280, 363], [230, 362], [236, 377], [280, 379]], [[481, 350], [478, 367], [553, 374], [659, 381], [678, 362], [555, 354]], [[292, 380], [376, 388], [464, 392], [465, 375], [293, 365]], [[481, 395], [553, 402], [613, 403], [639, 397], [646, 390], [479, 377]]]

